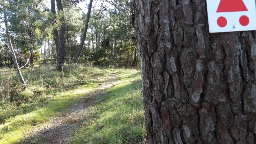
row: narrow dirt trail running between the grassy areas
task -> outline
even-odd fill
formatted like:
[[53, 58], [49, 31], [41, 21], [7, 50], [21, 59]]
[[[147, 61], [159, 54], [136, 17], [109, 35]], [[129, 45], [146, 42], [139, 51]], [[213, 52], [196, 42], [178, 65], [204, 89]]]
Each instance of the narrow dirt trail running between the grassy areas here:
[[[43, 127], [35, 129], [33, 136], [26, 138], [24, 144], [35, 142], [39, 139], [44, 139], [40, 144], [64, 144], [67, 143], [70, 135], [74, 133], [86, 120], [88, 115], [88, 107], [96, 104], [95, 99], [104, 95], [104, 91], [118, 84], [118, 74], [108, 74], [104, 77], [106, 80], [101, 81], [101, 85], [97, 86], [93, 92], [86, 94], [84, 99], [68, 108], [64, 114], [54, 118], [52, 122]], [[100, 80], [98, 78], [98, 80]]]

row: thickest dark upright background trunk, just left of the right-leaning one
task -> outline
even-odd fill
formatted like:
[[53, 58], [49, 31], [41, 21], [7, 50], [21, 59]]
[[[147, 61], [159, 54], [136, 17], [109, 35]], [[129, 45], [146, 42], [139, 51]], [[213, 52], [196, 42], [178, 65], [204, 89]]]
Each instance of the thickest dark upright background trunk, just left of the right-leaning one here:
[[[56, 0], [58, 12], [63, 12], [62, 0]], [[65, 42], [66, 42], [66, 22], [64, 16], [60, 19], [62, 21], [62, 26], [60, 26], [60, 31], [58, 35], [58, 58], [57, 58], [57, 70], [62, 70], [65, 66]]]

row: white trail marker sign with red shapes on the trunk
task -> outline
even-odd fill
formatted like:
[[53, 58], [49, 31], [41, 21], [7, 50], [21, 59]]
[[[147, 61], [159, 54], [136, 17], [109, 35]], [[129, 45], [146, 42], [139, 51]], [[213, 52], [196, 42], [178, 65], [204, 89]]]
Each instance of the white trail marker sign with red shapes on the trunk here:
[[255, 0], [206, 0], [210, 33], [256, 30]]

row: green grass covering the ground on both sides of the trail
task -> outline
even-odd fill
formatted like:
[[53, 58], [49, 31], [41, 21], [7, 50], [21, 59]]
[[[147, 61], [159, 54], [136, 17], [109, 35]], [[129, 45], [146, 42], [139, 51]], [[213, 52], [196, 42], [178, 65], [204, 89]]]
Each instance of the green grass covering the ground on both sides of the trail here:
[[[88, 118], [72, 135], [71, 143], [144, 143], [140, 72], [77, 65], [65, 72], [56, 72], [54, 66], [37, 66], [33, 74], [25, 69], [22, 73], [29, 80], [24, 91], [18, 90], [21, 86], [15, 74], [0, 74], [0, 144], [19, 143], [93, 92], [100, 83], [96, 77], [113, 72], [118, 72], [120, 84], [95, 100], [98, 104], [89, 108]], [[104, 128], [98, 130], [96, 124], [101, 122]]]

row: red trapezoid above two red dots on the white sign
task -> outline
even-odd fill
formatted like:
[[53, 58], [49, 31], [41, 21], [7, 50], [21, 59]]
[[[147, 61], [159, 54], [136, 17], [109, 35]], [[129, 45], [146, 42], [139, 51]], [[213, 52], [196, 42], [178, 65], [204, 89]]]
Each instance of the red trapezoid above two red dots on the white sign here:
[[243, 0], [220, 0], [217, 12], [248, 11]]

